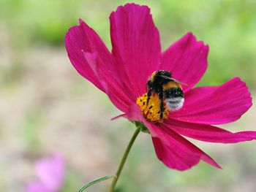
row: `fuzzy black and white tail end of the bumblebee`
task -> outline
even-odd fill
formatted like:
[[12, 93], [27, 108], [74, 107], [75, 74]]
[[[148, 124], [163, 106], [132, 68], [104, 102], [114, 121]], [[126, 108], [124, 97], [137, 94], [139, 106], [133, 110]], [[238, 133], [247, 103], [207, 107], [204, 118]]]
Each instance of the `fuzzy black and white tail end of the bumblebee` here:
[[181, 88], [170, 88], [165, 91], [167, 107], [170, 111], [180, 110], [184, 104], [184, 94]]

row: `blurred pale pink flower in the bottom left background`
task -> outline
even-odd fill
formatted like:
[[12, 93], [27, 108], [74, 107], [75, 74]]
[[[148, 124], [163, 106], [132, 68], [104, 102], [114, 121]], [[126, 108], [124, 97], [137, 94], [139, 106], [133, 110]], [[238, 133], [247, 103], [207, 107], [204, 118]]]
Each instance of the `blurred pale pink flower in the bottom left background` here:
[[64, 161], [58, 154], [39, 159], [35, 164], [39, 180], [29, 183], [27, 192], [57, 192], [64, 183]]

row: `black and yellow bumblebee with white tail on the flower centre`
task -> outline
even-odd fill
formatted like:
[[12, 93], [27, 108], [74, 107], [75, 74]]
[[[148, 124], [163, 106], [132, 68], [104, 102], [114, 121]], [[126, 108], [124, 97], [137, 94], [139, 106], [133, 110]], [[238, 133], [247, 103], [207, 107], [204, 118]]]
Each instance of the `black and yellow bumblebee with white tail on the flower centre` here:
[[172, 74], [167, 71], [156, 71], [151, 74], [147, 82], [147, 102], [151, 99], [152, 93], [157, 93], [160, 100], [160, 118], [163, 118], [165, 104], [170, 111], [180, 110], [184, 104], [184, 93], [181, 82], [174, 80]]

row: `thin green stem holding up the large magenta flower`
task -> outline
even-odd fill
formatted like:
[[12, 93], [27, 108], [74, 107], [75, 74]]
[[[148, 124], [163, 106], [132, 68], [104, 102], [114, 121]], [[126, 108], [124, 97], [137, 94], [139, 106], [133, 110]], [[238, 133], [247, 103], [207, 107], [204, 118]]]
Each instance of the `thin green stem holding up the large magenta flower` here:
[[111, 185], [110, 185], [110, 188], [109, 188], [108, 192], [114, 192], [114, 189], [115, 189], [115, 187], [116, 187], [116, 183], [117, 183], [118, 178], [119, 178], [119, 176], [120, 176], [120, 174], [121, 174], [121, 170], [123, 169], [124, 163], [125, 163], [125, 161], [127, 160], [127, 156], [128, 156], [128, 154], [129, 154], [129, 150], [131, 150], [132, 145], [133, 145], [133, 143], [135, 142], [135, 139], [136, 139], [136, 137], [138, 136], [139, 133], [140, 133], [140, 126], [137, 127], [135, 133], [134, 133], [133, 136], [132, 136], [132, 139], [129, 141], [129, 144], [128, 144], [128, 146], [127, 146], [127, 149], [126, 149], [125, 152], [124, 152], [123, 158], [121, 159], [121, 162], [120, 162], [120, 164], [119, 164], [119, 166], [118, 166], [116, 175], [113, 177], [113, 181], [112, 181], [112, 183], [111, 183]]

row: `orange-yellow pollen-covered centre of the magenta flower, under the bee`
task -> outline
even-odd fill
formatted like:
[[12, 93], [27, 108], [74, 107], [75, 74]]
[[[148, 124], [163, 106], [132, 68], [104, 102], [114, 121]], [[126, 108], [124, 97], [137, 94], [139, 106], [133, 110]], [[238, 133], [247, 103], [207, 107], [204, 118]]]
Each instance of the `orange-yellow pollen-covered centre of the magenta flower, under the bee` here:
[[160, 99], [157, 93], [153, 93], [147, 104], [148, 94], [145, 93], [143, 96], [138, 97], [136, 103], [143, 112], [144, 118], [153, 123], [162, 123], [163, 120], [167, 119], [169, 115], [169, 110], [164, 102], [164, 112], [162, 113], [162, 118], [160, 117]]

